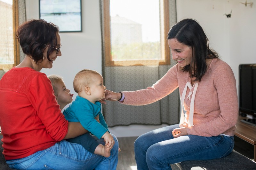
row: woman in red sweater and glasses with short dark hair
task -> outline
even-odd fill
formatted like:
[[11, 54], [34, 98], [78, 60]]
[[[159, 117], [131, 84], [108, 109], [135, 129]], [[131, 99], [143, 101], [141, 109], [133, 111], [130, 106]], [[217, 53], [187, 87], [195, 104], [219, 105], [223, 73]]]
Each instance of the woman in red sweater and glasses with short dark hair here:
[[0, 80], [0, 126], [4, 156], [15, 169], [116, 169], [118, 142], [105, 158], [69, 143], [87, 131], [61, 113], [51, 81], [42, 68], [61, 56], [58, 26], [31, 20], [17, 30], [24, 60]]

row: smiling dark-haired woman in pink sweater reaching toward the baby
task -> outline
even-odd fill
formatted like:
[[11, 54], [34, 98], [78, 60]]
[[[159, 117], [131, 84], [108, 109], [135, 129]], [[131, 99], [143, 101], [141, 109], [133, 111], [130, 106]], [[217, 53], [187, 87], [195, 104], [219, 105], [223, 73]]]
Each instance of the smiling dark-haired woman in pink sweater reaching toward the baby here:
[[134, 143], [138, 170], [171, 169], [186, 160], [218, 159], [234, 147], [238, 117], [236, 80], [227, 63], [211, 50], [198, 22], [184, 19], [168, 33], [172, 59], [178, 63], [147, 89], [115, 93], [106, 98], [129, 105], [156, 102], [179, 88], [180, 124], [141, 135]]

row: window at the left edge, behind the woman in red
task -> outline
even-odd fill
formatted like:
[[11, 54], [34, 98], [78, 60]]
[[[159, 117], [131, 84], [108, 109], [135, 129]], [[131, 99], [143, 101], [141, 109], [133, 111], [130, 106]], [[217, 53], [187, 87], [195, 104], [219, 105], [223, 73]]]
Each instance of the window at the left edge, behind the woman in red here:
[[20, 63], [20, 46], [15, 37], [18, 0], [0, 0], [0, 23], [0, 71], [7, 71]]

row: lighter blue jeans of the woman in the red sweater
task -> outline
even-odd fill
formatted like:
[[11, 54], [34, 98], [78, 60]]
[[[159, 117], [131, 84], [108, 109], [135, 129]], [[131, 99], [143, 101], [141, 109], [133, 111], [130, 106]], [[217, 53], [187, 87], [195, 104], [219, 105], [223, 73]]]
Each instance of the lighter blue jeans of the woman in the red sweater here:
[[[112, 135], [112, 134], [111, 134]], [[6, 163], [15, 169], [86, 169], [115, 170], [118, 158], [118, 140], [106, 158], [88, 152], [82, 145], [62, 140], [52, 147], [38, 151], [28, 157], [7, 160]], [[104, 143], [103, 139], [100, 143]]]

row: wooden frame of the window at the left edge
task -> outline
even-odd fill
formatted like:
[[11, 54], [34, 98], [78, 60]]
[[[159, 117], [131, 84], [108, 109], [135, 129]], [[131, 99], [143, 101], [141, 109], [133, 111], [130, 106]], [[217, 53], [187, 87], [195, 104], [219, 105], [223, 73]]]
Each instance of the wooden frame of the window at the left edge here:
[[12, 22], [13, 22], [13, 51], [14, 64], [0, 64], [0, 70], [10, 70], [20, 63], [20, 44], [16, 38], [16, 32], [19, 26], [19, 0], [12, 0]]

